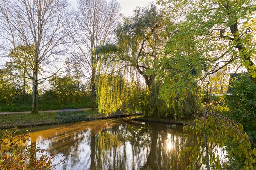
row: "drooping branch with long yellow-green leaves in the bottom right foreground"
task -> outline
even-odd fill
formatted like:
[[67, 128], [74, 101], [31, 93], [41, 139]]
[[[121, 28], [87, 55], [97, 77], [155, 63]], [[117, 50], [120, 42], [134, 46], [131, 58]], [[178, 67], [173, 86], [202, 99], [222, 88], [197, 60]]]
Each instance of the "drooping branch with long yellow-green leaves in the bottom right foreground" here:
[[[198, 145], [184, 147], [178, 159], [183, 159], [187, 152], [190, 164], [188, 170], [199, 169], [198, 162], [206, 165], [207, 170], [220, 170], [221, 161], [218, 148], [228, 143], [233, 145], [228, 154], [240, 159], [243, 170], [253, 170], [256, 163], [256, 144], [253, 143], [243, 129], [243, 126], [222, 115], [205, 111], [202, 118], [194, 120], [194, 124], [183, 127], [183, 131], [195, 135]], [[253, 145], [253, 146], [252, 146]], [[224, 168], [227, 164], [223, 162]]]

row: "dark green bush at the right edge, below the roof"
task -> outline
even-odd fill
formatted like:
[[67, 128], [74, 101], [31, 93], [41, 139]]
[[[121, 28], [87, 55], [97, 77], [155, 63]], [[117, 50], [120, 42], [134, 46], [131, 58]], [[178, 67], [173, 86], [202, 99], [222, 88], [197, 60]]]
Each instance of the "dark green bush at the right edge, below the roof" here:
[[256, 84], [244, 74], [239, 81], [234, 79], [231, 86], [233, 96], [225, 96], [225, 102], [230, 112], [225, 115], [244, 126], [251, 140], [256, 142]]

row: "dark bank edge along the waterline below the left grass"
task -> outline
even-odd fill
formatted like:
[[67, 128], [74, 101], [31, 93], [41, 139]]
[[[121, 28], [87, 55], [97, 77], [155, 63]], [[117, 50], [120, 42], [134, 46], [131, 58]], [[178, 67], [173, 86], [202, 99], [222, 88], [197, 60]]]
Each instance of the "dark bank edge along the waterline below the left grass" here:
[[[57, 113], [57, 112], [56, 112]], [[27, 113], [26, 113], [27, 114]], [[120, 113], [114, 113], [114, 114], [109, 114], [109, 115], [96, 115], [96, 116], [91, 116], [89, 115], [87, 117], [87, 120], [81, 120], [81, 121], [66, 121], [63, 123], [72, 123], [72, 122], [82, 122], [82, 121], [93, 121], [93, 120], [99, 120], [99, 119], [112, 119], [112, 118], [120, 118], [120, 117], [129, 117], [129, 116], [138, 116], [142, 114], [120, 114]], [[0, 125], [0, 130], [6, 130], [13, 128], [14, 126], [17, 126], [18, 128], [26, 128], [26, 127], [35, 127], [35, 126], [43, 126], [43, 125], [56, 125], [56, 124], [63, 124], [58, 121], [49, 121], [49, 122], [42, 122], [42, 123], [33, 123], [33, 122], [28, 122], [25, 125], [16, 125], [16, 124], [10, 124], [10, 125]]]

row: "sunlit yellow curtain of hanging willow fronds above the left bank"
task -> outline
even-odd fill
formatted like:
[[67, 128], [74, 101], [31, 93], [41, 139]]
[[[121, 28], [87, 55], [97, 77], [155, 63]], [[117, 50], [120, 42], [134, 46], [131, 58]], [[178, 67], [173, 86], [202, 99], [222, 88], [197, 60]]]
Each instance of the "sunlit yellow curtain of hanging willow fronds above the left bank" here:
[[122, 75], [100, 74], [97, 78], [98, 112], [110, 114], [123, 110], [127, 101], [127, 83]]

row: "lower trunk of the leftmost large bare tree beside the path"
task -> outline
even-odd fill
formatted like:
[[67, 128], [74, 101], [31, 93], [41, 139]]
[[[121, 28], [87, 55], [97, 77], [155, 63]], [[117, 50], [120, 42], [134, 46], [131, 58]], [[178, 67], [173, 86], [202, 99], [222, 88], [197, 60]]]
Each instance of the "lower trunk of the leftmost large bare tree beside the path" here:
[[38, 72], [35, 70], [33, 79], [33, 91], [32, 91], [32, 114], [38, 113]]

